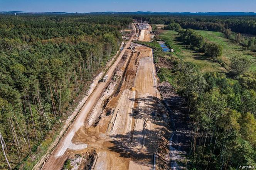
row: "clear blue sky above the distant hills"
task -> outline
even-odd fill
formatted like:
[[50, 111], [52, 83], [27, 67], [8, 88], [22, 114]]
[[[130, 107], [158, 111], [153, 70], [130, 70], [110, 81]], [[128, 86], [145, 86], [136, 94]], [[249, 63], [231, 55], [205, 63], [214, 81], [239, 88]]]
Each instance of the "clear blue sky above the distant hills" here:
[[256, 12], [256, 0], [0, 0], [0, 11]]

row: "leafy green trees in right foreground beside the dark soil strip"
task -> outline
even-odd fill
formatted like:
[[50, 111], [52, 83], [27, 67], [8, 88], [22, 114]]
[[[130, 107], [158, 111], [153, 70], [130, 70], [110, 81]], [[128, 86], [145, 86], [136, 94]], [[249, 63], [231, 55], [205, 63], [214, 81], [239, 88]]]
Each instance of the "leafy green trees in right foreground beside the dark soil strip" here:
[[190, 168], [255, 167], [256, 91], [243, 77], [201, 73], [193, 63], [180, 70], [178, 90], [187, 99], [193, 128]]

